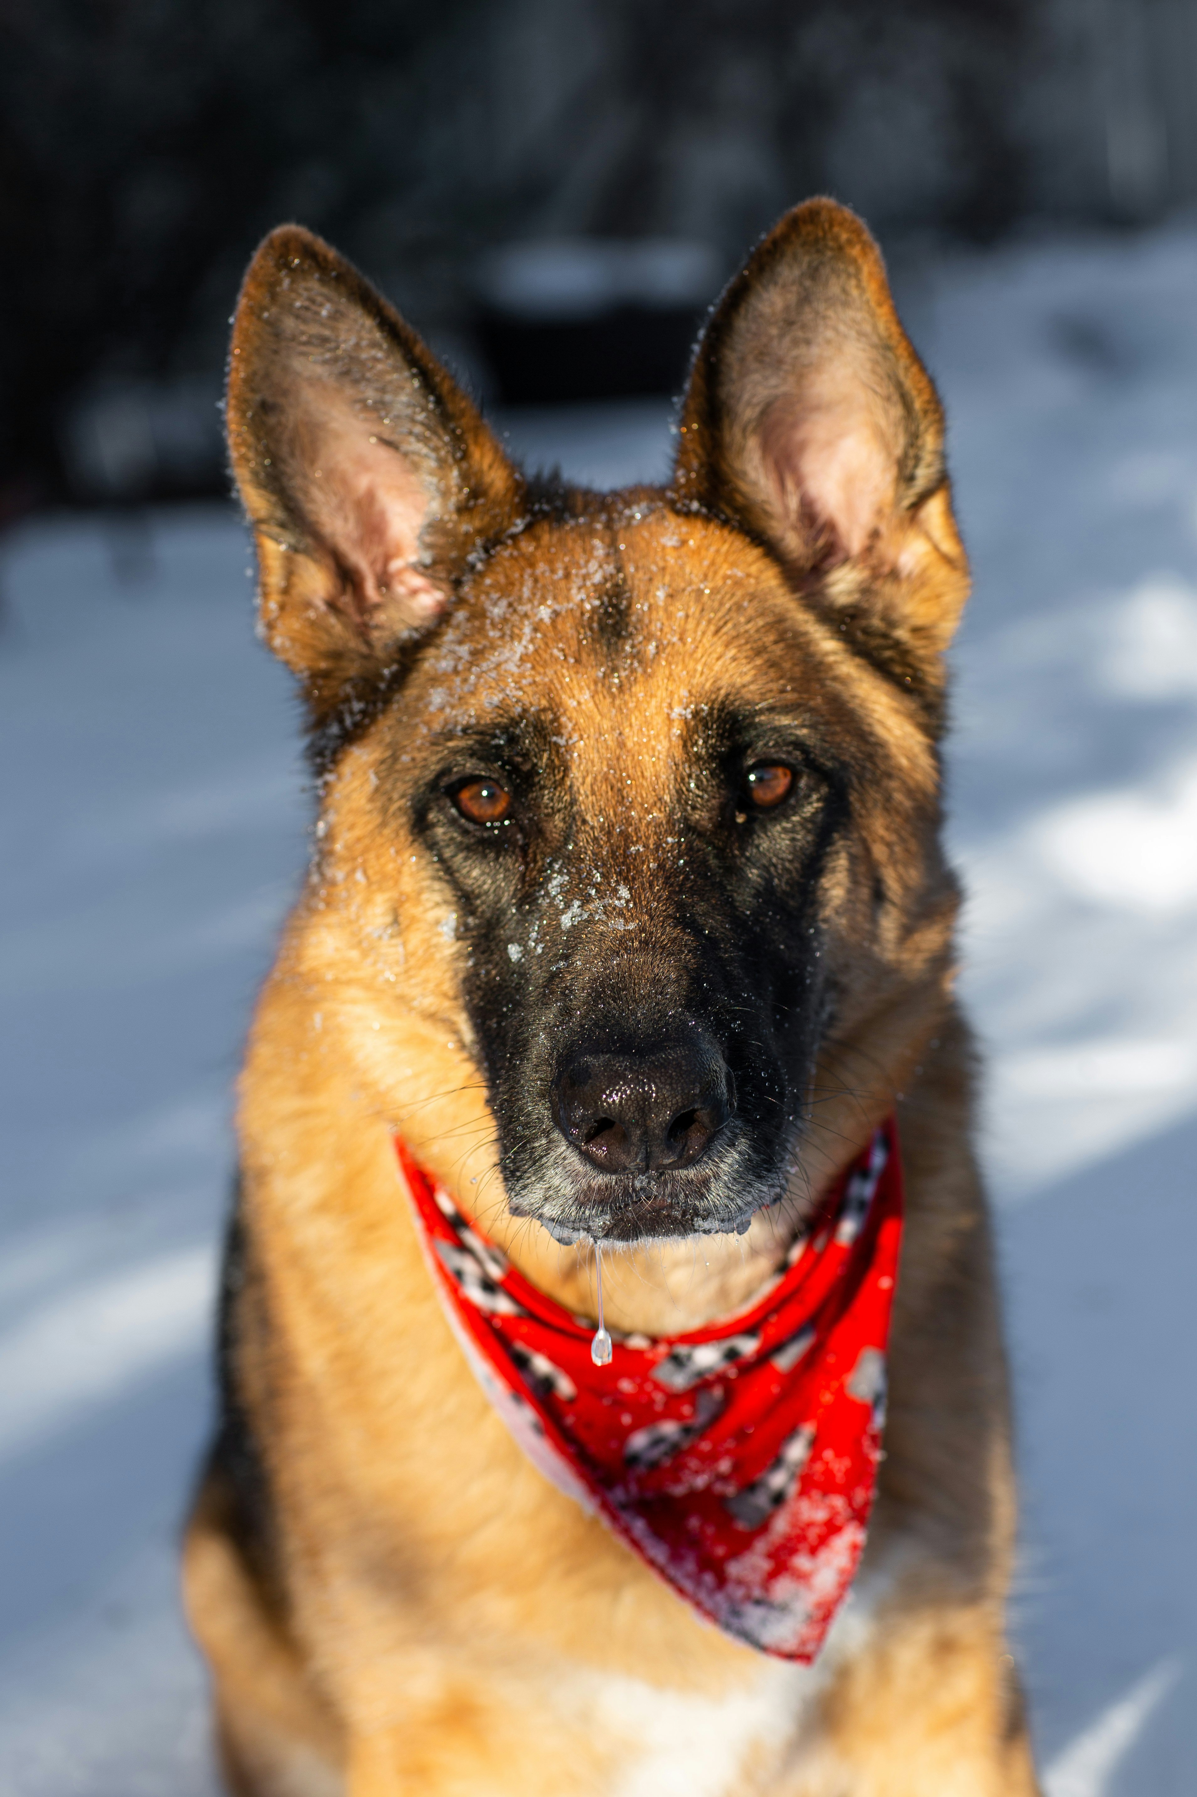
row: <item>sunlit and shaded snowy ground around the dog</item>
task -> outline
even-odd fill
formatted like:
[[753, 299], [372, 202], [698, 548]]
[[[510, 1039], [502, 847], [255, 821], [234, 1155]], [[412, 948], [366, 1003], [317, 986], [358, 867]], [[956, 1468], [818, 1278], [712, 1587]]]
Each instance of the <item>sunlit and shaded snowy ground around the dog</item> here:
[[[953, 839], [1019, 1391], [1050, 1797], [1197, 1772], [1197, 234], [906, 280], [976, 597]], [[596, 482], [660, 406], [511, 420]], [[248, 1005], [303, 861], [232, 512], [0, 555], [0, 1788], [210, 1797], [174, 1542]], [[1188, 1524], [1188, 1527], [1186, 1527]]]

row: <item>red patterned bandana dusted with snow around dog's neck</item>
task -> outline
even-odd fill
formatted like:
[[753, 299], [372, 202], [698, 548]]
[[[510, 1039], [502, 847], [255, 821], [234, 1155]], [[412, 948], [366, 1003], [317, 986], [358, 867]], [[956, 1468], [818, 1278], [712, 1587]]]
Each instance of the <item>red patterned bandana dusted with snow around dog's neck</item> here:
[[537, 1290], [395, 1143], [449, 1323], [519, 1445], [702, 1616], [809, 1662], [852, 1581], [885, 1421], [903, 1182], [894, 1120], [754, 1303], [619, 1335]]

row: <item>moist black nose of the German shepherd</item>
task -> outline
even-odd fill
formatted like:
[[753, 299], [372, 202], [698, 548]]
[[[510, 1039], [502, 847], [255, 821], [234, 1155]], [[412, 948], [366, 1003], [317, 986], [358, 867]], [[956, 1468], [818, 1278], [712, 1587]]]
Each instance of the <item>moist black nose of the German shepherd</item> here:
[[553, 1121], [605, 1173], [689, 1166], [736, 1107], [705, 1037], [641, 1055], [574, 1055], [553, 1082]]

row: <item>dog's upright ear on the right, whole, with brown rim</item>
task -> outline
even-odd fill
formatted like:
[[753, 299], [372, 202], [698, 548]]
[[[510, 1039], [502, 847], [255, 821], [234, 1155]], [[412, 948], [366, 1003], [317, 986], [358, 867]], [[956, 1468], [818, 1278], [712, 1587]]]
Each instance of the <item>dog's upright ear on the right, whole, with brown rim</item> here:
[[944, 415], [847, 207], [795, 207], [729, 286], [695, 358], [673, 492], [833, 600], [879, 588], [926, 647], [948, 643], [967, 570]]

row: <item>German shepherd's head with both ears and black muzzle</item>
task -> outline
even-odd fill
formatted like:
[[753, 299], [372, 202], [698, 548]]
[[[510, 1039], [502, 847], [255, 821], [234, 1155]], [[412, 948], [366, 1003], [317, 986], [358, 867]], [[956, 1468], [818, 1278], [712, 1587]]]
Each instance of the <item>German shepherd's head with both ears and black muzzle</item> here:
[[791, 212], [711, 318], [671, 487], [599, 496], [528, 482], [282, 228], [230, 440], [323, 775], [309, 915], [363, 1031], [406, 1010], [467, 1044], [510, 1209], [558, 1240], [745, 1229], [817, 1069], [869, 1084], [854, 1033], [949, 952], [935, 744], [967, 575], [872, 239]]

